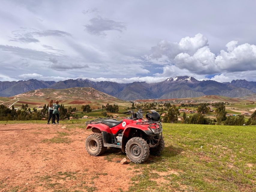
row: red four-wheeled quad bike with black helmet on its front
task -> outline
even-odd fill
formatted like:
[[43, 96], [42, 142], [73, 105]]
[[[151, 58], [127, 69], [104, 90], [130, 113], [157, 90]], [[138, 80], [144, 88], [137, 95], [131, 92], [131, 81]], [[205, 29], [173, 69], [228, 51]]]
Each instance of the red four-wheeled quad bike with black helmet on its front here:
[[129, 119], [117, 121], [110, 118], [99, 118], [86, 122], [86, 129], [92, 129], [93, 134], [86, 138], [87, 152], [98, 156], [107, 150], [107, 147], [120, 148], [126, 152], [134, 163], [143, 163], [149, 157], [149, 152], [159, 155], [164, 149], [162, 125], [160, 115], [154, 110], [146, 114], [133, 113]]

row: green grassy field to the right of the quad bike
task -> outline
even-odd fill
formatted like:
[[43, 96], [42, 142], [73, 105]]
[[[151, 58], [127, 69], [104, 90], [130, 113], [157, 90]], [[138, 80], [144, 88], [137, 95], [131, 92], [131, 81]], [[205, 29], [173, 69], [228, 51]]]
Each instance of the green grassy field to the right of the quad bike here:
[[135, 166], [144, 169], [131, 191], [255, 191], [256, 126], [163, 128], [161, 157]]

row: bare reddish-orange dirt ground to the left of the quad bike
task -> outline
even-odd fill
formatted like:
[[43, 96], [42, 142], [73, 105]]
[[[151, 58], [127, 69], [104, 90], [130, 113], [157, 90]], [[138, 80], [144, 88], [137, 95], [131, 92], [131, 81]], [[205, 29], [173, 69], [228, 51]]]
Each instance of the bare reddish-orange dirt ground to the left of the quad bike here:
[[129, 164], [90, 156], [84, 142], [91, 132], [62, 126], [0, 125], [1, 192], [128, 190], [134, 176]]

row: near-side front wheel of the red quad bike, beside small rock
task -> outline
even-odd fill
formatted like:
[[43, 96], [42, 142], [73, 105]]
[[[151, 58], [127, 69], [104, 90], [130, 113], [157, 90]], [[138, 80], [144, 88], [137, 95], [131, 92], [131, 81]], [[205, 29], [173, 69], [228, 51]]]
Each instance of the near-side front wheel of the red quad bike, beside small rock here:
[[141, 137], [133, 137], [126, 143], [125, 152], [134, 163], [143, 163], [149, 158], [149, 145]]

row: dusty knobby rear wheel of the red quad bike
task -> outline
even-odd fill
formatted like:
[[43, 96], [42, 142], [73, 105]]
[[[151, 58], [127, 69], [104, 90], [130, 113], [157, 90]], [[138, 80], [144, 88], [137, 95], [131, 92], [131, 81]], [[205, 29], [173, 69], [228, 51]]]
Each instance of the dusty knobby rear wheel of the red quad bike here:
[[107, 147], [103, 146], [103, 137], [101, 133], [90, 134], [85, 141], [87, 152], [92, 156], [98, 156], [106, 152]]

